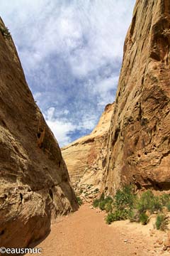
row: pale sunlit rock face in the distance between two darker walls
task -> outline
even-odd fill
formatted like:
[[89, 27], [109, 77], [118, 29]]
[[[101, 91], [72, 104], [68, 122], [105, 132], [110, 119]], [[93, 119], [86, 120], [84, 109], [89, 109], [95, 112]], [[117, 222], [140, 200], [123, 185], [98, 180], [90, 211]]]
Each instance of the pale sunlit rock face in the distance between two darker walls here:
[[62, 149], [72, 183], [101, 185], [103, 158], [106, 154], [108, 129], [111, 123], [113, 104], [106, 106], [101, 119], [91, 134], [77, 139]]

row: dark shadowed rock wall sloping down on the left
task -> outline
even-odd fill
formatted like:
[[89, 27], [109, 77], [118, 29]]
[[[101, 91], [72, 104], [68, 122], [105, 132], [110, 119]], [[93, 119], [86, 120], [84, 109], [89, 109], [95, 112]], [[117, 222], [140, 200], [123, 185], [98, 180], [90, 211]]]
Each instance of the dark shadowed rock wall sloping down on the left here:
[[7, 32], [0, 21], [0, 247], [26, 247], [77, 200]]

